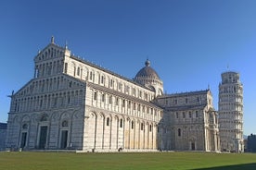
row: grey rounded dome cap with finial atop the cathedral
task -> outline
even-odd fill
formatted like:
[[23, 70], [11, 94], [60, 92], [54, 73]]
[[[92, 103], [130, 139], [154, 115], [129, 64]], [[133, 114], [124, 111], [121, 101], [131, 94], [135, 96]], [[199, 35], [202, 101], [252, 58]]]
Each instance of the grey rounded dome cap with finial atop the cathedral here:
[[134, 79], [138, 78], [160, 79], [158, 73], [150, 67], [150, 61], [148, 59], [145, 62], [145, 67], [139, 70]]

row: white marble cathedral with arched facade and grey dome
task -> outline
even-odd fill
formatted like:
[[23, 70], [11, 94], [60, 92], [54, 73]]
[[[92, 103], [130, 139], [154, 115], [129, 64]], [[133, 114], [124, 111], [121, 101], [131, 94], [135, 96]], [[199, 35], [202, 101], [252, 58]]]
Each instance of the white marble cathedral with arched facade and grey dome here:
[[220, 152], [210, 90], [166, 94], [147, 59], [127, 79], [51, 42], [12, 93], [6, 147], [77, 152]]

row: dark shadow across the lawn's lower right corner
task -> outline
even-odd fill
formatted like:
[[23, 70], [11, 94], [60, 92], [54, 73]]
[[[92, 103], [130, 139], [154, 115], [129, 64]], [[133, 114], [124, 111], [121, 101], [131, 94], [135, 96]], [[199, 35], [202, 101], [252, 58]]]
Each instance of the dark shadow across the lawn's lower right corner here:
[[220, 170], [220, 169], [242, 169], [242, 170], [255, 170], [256, 169], [256, 163], [251, 164], [234, 164], [234, 165], [224, 165], [224, 166], [216, 166], [216, 167], [208, 167], [208, 168], [198, 168], [194, 170]]

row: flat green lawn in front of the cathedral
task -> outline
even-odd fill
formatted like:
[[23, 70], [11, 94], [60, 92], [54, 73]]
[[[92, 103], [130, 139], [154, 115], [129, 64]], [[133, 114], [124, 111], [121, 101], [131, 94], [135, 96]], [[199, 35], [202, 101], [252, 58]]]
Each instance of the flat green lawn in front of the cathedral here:
[[1, 170], [58, 169], [256, 169], [253, 153], [0, 152]]

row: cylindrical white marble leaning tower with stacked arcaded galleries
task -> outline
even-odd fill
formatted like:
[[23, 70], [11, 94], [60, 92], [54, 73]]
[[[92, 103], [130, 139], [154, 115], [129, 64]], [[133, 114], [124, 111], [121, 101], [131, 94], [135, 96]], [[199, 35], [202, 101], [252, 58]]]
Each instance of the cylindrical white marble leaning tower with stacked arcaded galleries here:
[[224, 72], [219, 85], [219, 125], [223, 152], [243, 152], [243, 85], [237, 72]]

